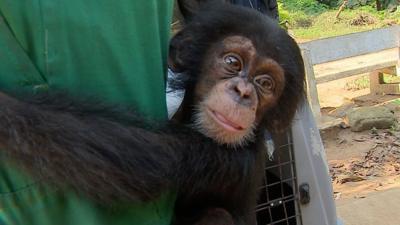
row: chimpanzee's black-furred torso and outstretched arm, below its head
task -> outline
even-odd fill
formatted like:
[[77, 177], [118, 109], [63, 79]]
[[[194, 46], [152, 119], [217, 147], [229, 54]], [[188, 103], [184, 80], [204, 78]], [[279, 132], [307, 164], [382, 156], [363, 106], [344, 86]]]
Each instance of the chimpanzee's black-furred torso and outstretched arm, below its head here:
[[193, 224], [214, 207], [247, 220], [256, 191], [244, 193], [257, 186], [254, 174], [263, 165], [255, 144], [233, 151], [185, 126], [149, 131], [131, 111], [69, 102], [0, 97], [0, 149], [41, 180], [105, 203], [148, 201], [178, 190], [185, 207], [177, 205], [177, 224]]

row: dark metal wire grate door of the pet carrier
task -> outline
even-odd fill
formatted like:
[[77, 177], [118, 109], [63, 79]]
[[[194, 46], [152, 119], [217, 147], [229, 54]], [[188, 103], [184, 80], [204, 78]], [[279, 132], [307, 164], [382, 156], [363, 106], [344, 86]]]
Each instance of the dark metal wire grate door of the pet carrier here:
[[290, 132], [275, 138], [273, 160], [265, 167], [257, 212], [258, 225], [301, 225], [293, 143]]

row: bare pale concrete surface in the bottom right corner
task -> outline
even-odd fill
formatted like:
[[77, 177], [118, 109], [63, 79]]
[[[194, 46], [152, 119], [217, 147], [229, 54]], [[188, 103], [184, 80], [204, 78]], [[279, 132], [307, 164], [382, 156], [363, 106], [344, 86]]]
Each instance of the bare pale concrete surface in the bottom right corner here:
[[400, 188], [336, 201], [344, 225], [400, 225]]

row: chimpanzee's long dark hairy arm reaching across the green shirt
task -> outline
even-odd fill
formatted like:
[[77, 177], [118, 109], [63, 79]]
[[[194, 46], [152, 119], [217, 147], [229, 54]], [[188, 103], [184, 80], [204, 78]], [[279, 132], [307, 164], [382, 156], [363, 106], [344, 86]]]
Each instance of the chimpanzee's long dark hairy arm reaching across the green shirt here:
[[148, 200], [174, 188], [182, 152], [202, 143], [185, 127], [173, 135], [169, 127], [143, 129], [132, 113], [110, 116], [101, 106], [63, 101], [22, 102], [0, 93], [0, 149], [36, 176], [102, 201]]

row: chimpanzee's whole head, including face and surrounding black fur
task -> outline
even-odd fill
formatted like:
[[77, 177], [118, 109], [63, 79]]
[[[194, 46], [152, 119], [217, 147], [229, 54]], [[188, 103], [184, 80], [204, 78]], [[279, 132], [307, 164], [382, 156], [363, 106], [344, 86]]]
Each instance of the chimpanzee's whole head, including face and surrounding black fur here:
[[186, 91], [177, 120], [194, 122], [220, 144], [243, 145], [259, 128], [285, 131], [304, 99], [296, 42], [276, 21], [243, 7], [200, 10], [172, 38], [169, 65]]

